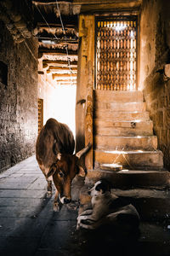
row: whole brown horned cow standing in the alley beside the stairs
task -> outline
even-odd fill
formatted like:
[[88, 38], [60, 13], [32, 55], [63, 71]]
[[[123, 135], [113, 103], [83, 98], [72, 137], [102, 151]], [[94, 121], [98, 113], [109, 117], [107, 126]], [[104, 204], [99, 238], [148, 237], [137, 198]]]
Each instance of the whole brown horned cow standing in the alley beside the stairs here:
[[[52, 194], [52, 177], [56, 188], [54, 211], [59, 211], [61, 203], [71, 202], [71, 181], [76, 176], [85, 176], [77, 161], [90, 148], [90, 144], [77, 154], [73, 154], [75, 141], [71, 130], [56, 119], [48, 119], [37, 137], [36, 158], [40, 169], [48, 181], [48, 196]], [[58, 200], [59, 199], [59, 200]]]

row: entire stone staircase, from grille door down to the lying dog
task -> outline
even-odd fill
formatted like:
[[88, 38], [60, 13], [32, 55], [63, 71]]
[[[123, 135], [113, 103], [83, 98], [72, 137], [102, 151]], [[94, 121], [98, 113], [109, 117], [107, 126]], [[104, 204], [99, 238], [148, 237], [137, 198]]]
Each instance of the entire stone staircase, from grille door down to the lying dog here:
[[80, 211], [90, 202], [88, 188], [107, 178], [113, 192], [130, 199], [142, 219], [167, 218], [170, 175], [143, 93], [95, 90], [94, 102], [94, 170], [88, 170], [80, 193]]

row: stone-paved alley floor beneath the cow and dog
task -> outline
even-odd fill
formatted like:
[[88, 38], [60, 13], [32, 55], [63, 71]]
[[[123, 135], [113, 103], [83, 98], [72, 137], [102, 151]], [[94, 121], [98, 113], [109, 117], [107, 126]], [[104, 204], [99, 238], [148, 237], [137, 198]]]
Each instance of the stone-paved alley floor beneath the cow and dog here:
[[[78, 201], [82, 177], [73, 182]], [[46, 181], [32, 156], [0, 174], [0, 255], [170, 255], [166, 224], [141, 223], [139, 234], [119, 230], [76, 230], [77, 210], [53, 212]]]

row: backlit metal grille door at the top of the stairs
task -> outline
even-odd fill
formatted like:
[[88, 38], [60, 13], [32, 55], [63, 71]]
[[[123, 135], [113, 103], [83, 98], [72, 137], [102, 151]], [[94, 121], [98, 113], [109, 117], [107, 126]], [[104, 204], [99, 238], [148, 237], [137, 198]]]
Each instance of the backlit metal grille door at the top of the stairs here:
[[136, 16], [98, 17], [95, 44], [96, 89], [136, 90]]

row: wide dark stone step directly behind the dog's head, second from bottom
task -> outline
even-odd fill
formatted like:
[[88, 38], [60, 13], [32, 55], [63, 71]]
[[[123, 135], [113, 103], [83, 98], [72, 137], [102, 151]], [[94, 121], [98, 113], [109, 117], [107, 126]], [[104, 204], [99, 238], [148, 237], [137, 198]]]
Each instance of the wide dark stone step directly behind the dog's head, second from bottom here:
[[165, 188], [170, 183], [170, 172], [167, 171], [141, 171], [141, 170], [122, 170], [116, 172], [111, 170], [94, 169], [88, 170], [86, 183], [95, 183], [101, 178], [108, 179], [113, 188], [146, 188], [146, 187], [161, 187]]

